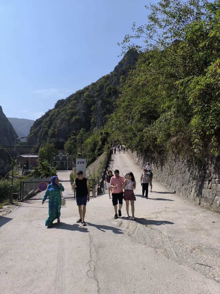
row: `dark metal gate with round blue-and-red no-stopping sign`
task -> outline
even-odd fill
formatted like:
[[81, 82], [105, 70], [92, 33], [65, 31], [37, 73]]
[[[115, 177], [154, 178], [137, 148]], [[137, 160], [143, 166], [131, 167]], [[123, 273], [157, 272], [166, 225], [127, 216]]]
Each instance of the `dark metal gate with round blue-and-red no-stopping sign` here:
[[[21, 182], [20, 183], [20, 201], [24, 200], [40, 200], [43, 198], [45, 191], [40, 191], [38, 185], [42, 182]], [[50, 181], [44, 181], [48, 185]], [[62, 195], [65, 199], [76, 198], [76, 191], [72, 188], [73, 181], [59, 181], [64, 187]], [[95, 196], [95, 179], [89, 179], [90, 197]]]

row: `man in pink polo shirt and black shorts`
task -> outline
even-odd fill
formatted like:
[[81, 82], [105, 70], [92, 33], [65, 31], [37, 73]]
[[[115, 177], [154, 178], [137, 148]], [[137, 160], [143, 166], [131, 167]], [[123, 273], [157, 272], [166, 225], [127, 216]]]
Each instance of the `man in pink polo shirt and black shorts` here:
[[111, 177], [111, 180], [110, 180], [110, 187], [113, 188], [111, 196], [112, 196], [112, 203], [115, 210], [114, 218], [118, 218], [117, 205], [119, 201], [119, 216], [121, 216], [121, 208], [123, 204], [123, 188], [125, 186], [125, 183], [124, 183], [124, 178], [119, 176], [118, 169], [114, 171], [114, 174], [115, 175]]

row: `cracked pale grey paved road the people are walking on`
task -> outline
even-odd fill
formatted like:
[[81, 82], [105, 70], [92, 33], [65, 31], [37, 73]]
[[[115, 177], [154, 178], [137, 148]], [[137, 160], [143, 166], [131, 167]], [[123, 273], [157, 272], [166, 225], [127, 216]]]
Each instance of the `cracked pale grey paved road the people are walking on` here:
[[110, 168], [135, 175], [136, 221], [125, 218], [124, 204], [114, 220], [107, 194], [88, 203], [86, 227], [76, 223], [75, 200], [51, 228], [44, 225], [48, 202], [21, 203], [0, 217], [0, 293], [219, 294], [220, 214], [155, 180], [142, 198], [142, 169], [128, 153], [113, 155]]

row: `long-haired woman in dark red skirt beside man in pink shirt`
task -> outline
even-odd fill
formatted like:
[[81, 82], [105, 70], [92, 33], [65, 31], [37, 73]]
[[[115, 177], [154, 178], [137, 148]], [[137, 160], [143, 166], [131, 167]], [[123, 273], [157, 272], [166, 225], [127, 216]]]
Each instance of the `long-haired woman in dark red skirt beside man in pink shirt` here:
[[136, 188], [136, 181], [134, 178], [133, 173], [128, 173], [128, 178], [124, 180], [124, 183], [126, 184], [127, 188], [124, 190], [124, 200], [126, 202], [126, 218], [130, 218], [129, 216], [129, 201], [131, 202], [131, 213], [132, 213], [132, 219], [135, 220], [134, 217], [134, 201], [136, 201], [136, 197], [134, 195], [134, 190]]

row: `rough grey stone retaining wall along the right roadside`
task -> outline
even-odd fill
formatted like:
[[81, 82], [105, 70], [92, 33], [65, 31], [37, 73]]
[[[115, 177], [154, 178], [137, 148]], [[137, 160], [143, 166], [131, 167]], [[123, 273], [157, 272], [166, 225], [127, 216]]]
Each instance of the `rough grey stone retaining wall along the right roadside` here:
[[189, 198], [201, 206], [220, 211], [220, 161], [204, 159], [196, 163], [181, 156], [161, 158], [150, 153], [131, 152], [142, 167], [150, 161], [153, 177], [171, 191]]

